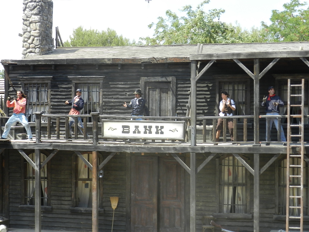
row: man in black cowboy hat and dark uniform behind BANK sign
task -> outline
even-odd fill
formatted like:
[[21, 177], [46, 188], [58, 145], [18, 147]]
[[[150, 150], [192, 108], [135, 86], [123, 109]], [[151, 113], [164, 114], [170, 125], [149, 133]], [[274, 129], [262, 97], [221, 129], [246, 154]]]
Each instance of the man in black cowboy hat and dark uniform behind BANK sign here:
[[[130, 101], [130, 104], [123, 104], [124, 107], [132, 108], [132, 116], [149, 116], [149, 109], [147, 107], [146, 100], [142, 98], [142, 91], [140, 89], [133, 92], [135, 98]], [[136, 118], [135, 120], [143, 120], [142, 118]]]

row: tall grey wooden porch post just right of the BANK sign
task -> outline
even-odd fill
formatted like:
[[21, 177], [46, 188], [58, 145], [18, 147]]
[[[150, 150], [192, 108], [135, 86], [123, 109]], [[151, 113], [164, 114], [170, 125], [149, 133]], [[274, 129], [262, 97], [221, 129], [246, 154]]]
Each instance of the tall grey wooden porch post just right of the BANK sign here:
[[[196, 146], [196, 61], [191, 61], [191, 146]], [[195, 232], [196, 156], [190, 153], [190, 232]]]

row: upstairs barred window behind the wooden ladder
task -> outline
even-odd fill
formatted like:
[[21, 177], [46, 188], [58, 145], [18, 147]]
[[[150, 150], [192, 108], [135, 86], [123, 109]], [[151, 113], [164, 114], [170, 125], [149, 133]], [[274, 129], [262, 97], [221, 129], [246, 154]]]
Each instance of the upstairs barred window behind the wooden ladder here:
[[[291, 81], [291, 84], [300, 84], [301, 83], [301, 79], [293, 79]], [[277, 92], [276, 92], [277, 91]], [[301, 94], [302, 93], [302, 88], [299, 87], [293, 87], [293, 89], [291, 89], [291, 94]], [[304, 102], [304, 114], [308, 115], [308, 80], [305, 80], [305, 102]], [[275, 89], [275, 94], [278, 94], [281, 98], [281, 101], [284, 102], [284, 106], [280, 107], [280, 114], [281, 115], [287, 115], [287, 104], [288, 104], [288, 84], [287, 84], [287, 79], [281, 79], [278, 81], [278, 89]], [[293, 101], [293, 102], [292, 102]], [[291, 99], [291, 102], [293, 104], [301, 104], [301, 97], [293, 97]], [[299, 110], [300, 108], [298, 106], [291, 106], [291, 114], [299, 114]], [[293, 118], [292, 119], [293, 122], [291, 123], [298, 123], [299, 122], [299, 118]], [[283, 123], [287, 123], [287, 119], [284, 119]], [[304, 118], [304, 123], [308, 123], [308, 118]]]

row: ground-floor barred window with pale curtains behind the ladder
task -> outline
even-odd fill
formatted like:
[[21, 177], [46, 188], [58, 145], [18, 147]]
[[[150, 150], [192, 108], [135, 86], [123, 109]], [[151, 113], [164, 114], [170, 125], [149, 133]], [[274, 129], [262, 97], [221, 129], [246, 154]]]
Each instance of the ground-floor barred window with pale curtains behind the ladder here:
[[[290, 165], [300, 165], [301, 159], [297, 157], [290, 158]], [[308, 164], [303, 161], [304, 165], [304, 172], [303, 172], [303, 216], [308, 216]], [[290, 168], [289, 170], [290, 175], [300, 175], [299, 168]], [[295, 183], [297, 182], [297, 183]], [[300, 183], [299, 178], [292, 178], [290, 179], [290, 185], [299, 185]], [[276, 199], [278, 200], [278, 214], [279, 215], [286, 215], [286, 159], [283, 159], [278, 164], [278, 196]], [[290, 196], [299, 196], [300, 195], [299, 188], [290, 188]], [[300, 199], [294, 198], [291, 199], [289, 202], [290, 206], [300, 206]], [[299, 208], [290, 208], [289, 215], [291, 216], [300, 216], [300, 209]]]

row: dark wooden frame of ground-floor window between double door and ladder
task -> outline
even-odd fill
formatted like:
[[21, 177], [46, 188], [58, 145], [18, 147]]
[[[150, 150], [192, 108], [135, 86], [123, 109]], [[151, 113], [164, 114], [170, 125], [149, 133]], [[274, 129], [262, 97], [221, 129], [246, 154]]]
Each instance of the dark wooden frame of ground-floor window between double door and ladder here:
[[[244, 166], [245, 168], [245, 178], [246, 178], [246, 183], [247, 183], [247, 189], [245, 190], [246, 192], [246, 197], [247, 197], [247, 201], [246, 201], [246, 205], [245, 205], [245, 210], [243, 213], [222, 213], [221, 210], [220, 210], [220, 178], [221, 178], [221, 175], [222, 173], [220, 172], [220, 165], [221, 165], [221, 162], [224, 158], [227, 158], [227, 157], [233, 157], [234, 159], [237, 160], [237, 158], [233, 155], [233, 154], [225, 154], [220, 157], [218, 157], [216, 159], [216, 195], [218, 196], [216, 198], [216, 213], [215, 213], [215, 216], [220, 218], [220, 217], [224, 217], [224, 218], [243, 218], [243, 219], [250, 219], [252, 218], [252, 214], [250, 214], [250, 202], [251, 202], [251, 199], [250, 199], [250, 192], [251, 192], [251, 178], [250, 178], [250, 172], [248, 171], [248, 169]], [[250, 165], [250, 158], [247, 157], [247, 156], [243, 156], [243, 155], [240, 155], [242, 159], [244, 159], [248, 165]]]

